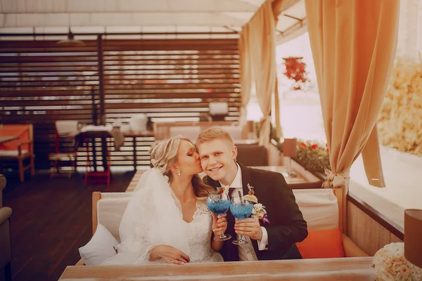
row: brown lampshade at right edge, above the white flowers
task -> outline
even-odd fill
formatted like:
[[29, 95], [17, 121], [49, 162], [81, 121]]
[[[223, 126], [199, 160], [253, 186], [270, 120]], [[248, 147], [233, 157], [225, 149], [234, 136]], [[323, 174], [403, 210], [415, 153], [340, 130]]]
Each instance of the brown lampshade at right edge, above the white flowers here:
[[422, 268], [422, 209], [404, 210], [404, 257]]

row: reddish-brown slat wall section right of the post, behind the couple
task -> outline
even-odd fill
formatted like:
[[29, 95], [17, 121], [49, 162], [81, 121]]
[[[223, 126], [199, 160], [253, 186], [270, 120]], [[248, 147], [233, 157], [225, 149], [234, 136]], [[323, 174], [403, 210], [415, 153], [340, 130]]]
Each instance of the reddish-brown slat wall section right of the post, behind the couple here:
[[[104, 40], [106, 122], [139, 113], [160, 121], [199, 121], [212, 101], [228, 101], [237, 121], [241, 105], [236, 39]], [[133, 162], [132, 139], [113, 152], [115, 164]], [[136, 139], [137, 164], [149, 164], [151, 139]]]

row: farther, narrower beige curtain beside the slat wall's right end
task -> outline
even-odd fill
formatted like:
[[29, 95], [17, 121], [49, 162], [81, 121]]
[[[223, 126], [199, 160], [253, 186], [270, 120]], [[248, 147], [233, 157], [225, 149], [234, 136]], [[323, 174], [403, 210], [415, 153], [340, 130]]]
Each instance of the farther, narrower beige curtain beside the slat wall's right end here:
[[[251, 75], [255, 81], [258, 103], [262, 115], [264, 115], [260, 122], [260, 145], [269, 143], [271, 95], [274, 93], [276, 86], [275, 34], [276, 21], [274, 20], [271, 1], [266, 1], [241, 32], [241, 40], [245, 40], [245, 44], [248, 44], [249, 47]], [[276, 108], [276, 110], [279, 110], [279, 108]]]

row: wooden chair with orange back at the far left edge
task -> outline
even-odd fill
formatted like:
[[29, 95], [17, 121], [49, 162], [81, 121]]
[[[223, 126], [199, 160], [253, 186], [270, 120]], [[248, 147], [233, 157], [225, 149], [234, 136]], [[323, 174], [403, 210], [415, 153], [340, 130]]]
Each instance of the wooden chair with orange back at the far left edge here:
[[[35, 175], [34, 169], [34, 135], [32, 124], [4, 124], [1, 127], [1, 136], [17, 136], [13, 141], [0, 144], [0, 162], [18, 161], [20, 182], [25, 181], [24, 172], [30, 169], [31, 176]], [[24, 161], [29, 163], [24, 166]]]

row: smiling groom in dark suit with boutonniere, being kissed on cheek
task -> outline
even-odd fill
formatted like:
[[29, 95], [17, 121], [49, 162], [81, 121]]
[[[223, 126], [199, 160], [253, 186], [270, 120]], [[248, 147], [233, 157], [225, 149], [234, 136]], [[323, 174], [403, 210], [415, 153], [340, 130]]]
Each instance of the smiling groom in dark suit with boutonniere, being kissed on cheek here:
[[[237, 148], [224, 129], [212, 127], [203, 131], [196, 142], [205, 176], [203, 181], [213, 188], [229, 186], [228, 194], [248, 194], [248, 184], [258, 202], [266, 207], [269, 223], [257, 218], [235, 223], [227, 212], [227, 234], [231, 240], [220, 250], [224, 261], [301, 259], [295, 242], [307, 237], [307, 223], [295, 202], [295, 196], [283, 176], [272, 171], [252, 169], [236, 162]], [[233, 190], [233, 191], [231, 191]], [[231, 241], [245, 235], [247, 244], [236, 246]]]

